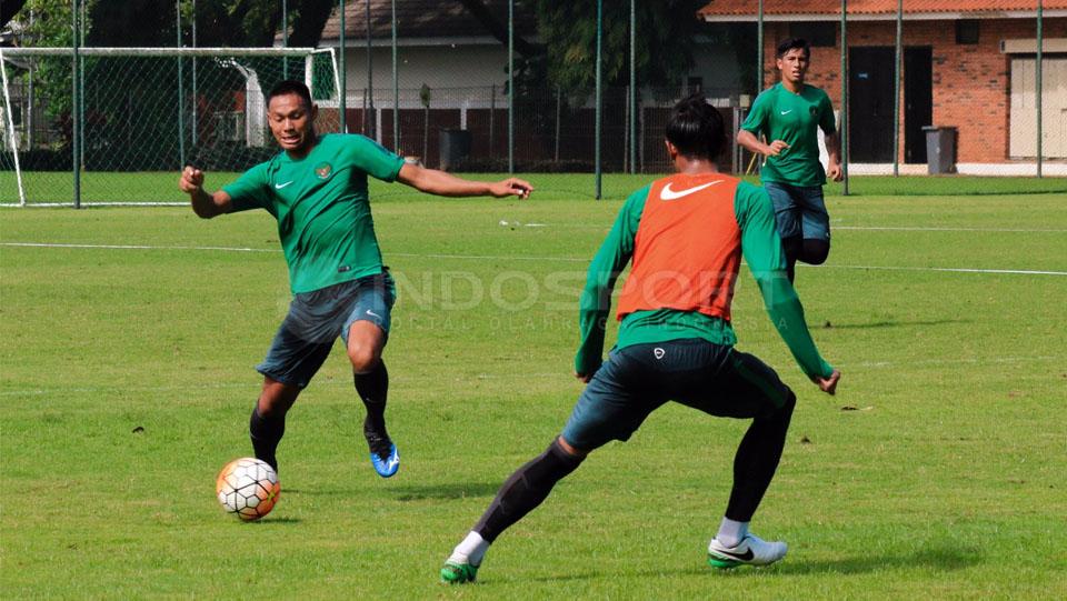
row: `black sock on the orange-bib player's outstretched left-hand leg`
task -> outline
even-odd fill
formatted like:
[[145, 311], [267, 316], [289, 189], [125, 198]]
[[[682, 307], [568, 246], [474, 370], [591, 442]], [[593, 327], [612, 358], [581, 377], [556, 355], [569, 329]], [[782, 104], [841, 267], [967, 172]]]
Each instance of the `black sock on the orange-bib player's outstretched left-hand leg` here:
[[500, 487], [496, 499], [473, 531], [492, 542], [511, 524], [541, 504], [556, 482], [578, 469], [585, 457], [575, 457], [554, 440], [548, 449], [522, 465]]

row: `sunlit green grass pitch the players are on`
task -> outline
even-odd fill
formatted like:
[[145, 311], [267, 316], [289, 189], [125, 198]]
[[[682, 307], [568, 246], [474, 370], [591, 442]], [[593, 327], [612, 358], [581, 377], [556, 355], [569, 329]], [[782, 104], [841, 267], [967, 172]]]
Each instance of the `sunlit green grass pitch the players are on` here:
[[705, 564], [746, 423], [668, 405], [501, 537], [477, 584], [438, 584], [580, 391], [577, 291], [639, 183], [594, 202], [585, 178], [532, 177], [526, 202], [373, 190], [400, 286], [401, 470], [366, 460], [336, 349], [290, 413], [281, 501], [249, 524], [212, 487], [250, 453], [252, 367], [289, 300], [270, 217], [0, 212], [0, 597], [1067, 597], [1067, 199], [947, 191], [828, 199], [834, 250], [798, 290], [837, 397], [741, 276], [739, 348], [799, 395], [754, 522], [790, 543], [784, 562]]

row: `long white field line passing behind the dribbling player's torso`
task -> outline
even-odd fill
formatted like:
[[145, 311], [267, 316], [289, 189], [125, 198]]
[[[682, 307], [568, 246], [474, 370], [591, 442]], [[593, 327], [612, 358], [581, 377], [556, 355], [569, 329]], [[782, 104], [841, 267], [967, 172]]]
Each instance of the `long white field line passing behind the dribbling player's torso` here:
[[[0, 247], [16, 248], [54, 248], [54, 249], [90, 249], [90, 250], [192, 250], [192, 251], [218, 251], [218, 252], [272, 252], [280, 253], [277, 249], [253, 249], [242, 247], [157, 247], [148, 244], [66, 244], [49, 242], [0, 242]], [[505, 254], [435, 254], [435, 253], [412, 253], [412, 252], [392, 252], [386, 253], [390, 257], [408, 257], [417, 259], [456, 259], [456, 260], [476, 260], [476, 261], [560, 261], [571, 263], [587, 263], [590, 259], [577, 259], [574, 257], [529, 257], [529, 256], [505, 256]], [[949, 273], [995, 273], [995, 274], [1015, 274], [1015, 276], [1067, 276], [1067, 271], [1044, 271], [1029, 269], [979, 269], [979, 268], [949, 268], [949, 267], [899, 267], [899, 266], [806, 266], [804, 268], [812, 269], [852, 269], [852, 270], [880, 270], [880, 271], [940, 271]]]

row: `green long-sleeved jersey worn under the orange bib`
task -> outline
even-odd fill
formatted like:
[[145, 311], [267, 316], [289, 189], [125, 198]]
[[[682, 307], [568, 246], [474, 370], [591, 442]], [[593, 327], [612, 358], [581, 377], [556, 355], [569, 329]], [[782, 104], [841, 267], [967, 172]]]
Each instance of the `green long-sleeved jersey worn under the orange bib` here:
[[[586, 278], [579, 302], [581, 343], [575, 357], [578, 373], [592, 373], [604, 351], [605, 324], [616, 278], [634, 254], [634, 243], [650, 186], [630, 194], [600, 246]], [[786, 277], [786, 259], [775, 226], [775, 210], [767, 192], [740, 182], [734, 194], [734, 214], [740, 228], [741, 254], [759, 286], [764, 304], [800, 369], [809, 377], [829, 377], [831, 368], [819, 354], [804, 319], [804, 308]], [[675, 241], [676, 243], [681, 243]], [[697, 311], [656, 309], [627, 314], [619, 325], [617, 348], [632, 344], [699, 338], [734, 345], [730, 322]]]

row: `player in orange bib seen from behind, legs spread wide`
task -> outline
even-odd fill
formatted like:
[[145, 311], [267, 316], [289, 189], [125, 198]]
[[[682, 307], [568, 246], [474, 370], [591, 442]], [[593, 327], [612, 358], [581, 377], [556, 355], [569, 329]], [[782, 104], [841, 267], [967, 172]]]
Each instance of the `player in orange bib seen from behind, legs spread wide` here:
[[[734, 460], [734, 487], [708, 545], [717, 568], [766, 565], [786, 543], [748, 530], [778, 467], [796, 404], [762, 361], [734, 348], [730, 302], [744, 256], [764, 303], [804, 373], [832, 394], [840, 372], [822, 360], [787, 277], [770, 198], [718, 172], [722, 118], [700, 94], [679, 102], [667, 124], [677, 173], [631, 194], [589, 267], [575, 358], [587, 382], [562, 433], [518, 469], [441, 569], [441, 580], [473, 581], [497, 537], [539, 505], [586, 455], [627, 440], [669, 401], [711, 415], [751, 419]], [[601, 364], [611, 290], [627, 263], [618, 342]]]

